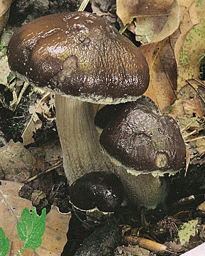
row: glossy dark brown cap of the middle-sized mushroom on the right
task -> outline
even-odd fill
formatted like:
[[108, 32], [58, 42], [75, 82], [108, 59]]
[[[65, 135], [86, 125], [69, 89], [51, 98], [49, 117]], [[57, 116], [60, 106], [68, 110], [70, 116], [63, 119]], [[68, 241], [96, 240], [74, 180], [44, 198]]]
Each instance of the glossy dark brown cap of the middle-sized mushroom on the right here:
[[186, 148], [177, 123], [159, 115], [145, 97], [121, 104], [100, 144], [114, 161], [137, 173], [160, 175], [185, 167]]

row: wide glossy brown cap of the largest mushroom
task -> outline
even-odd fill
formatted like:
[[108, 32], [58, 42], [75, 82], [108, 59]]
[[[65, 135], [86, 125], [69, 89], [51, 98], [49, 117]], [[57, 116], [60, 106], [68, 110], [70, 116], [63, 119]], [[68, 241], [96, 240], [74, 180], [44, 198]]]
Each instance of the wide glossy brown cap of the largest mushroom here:
[[144, 55], [108, 21], [89, 12], [27, 23], [11, 37], [7, 55], [17, 76], [84, 101], [135, 100], [148, 88]]

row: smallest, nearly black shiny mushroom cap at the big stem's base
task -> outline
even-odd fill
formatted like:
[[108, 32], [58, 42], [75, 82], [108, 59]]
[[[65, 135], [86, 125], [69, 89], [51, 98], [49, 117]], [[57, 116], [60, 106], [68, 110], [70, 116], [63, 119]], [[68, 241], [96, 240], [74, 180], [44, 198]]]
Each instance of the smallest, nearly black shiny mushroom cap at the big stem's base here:
[[71, 203], [80, 210], [114, 212], [122, 203], [124, 190], [121, 180], [105, 171], [86, 173], [69, 189]]

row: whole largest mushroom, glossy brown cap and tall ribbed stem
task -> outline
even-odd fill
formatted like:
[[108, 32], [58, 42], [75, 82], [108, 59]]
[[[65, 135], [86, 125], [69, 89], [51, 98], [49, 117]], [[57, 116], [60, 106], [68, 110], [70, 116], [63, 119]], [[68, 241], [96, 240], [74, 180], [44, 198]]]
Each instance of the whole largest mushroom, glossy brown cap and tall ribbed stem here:
[[131, 101], [146, 91], [148, 65], [138, 48], [103, 18], [71, 12], [27, 23], [7, 54], [16, 76], [56, 93], [68, 183], [90, 171], [115, 172], [100, 146], [92, 103]]

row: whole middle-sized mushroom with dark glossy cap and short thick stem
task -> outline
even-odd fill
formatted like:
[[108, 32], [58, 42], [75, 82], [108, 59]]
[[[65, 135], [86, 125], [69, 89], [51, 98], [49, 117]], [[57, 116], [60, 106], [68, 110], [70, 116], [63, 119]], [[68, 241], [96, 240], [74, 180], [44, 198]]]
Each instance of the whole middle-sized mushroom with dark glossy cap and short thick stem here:
[[[110, 106], [105, 106], [110, 108]], [[105, 108], [96, 119], [106, 119]], [[159, 115], [148, 97], [119, 104], [104, 123], [100, 144], [121, 177], [132, 202], [155, 208], [166, 196], [165, 173], [185, 167], [186, 148], [180, 129], [168, 115]]]

